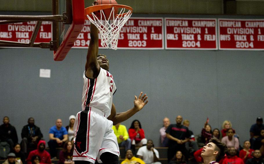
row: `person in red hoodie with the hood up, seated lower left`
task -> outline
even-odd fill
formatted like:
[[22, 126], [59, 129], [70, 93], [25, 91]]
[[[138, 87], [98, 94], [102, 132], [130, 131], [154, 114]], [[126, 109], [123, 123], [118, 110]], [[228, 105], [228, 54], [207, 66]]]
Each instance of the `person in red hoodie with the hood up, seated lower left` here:
[[40, 140], [37, 145], [37, 149], [29, 153], [27, 158], [27, 164], [32, 164], [31, 158], [34, 155], [40, 156], [40, 164], [50, 164], [51, 163], [50, 154], [45, 150], [45, 148], [46, 148], [46, 142], [44, 140]]

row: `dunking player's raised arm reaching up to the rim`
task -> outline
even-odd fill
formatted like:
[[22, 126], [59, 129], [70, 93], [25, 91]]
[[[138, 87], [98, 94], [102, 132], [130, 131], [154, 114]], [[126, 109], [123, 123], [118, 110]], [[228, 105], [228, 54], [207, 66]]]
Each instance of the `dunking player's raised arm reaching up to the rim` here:
[[97, 62], [98, 54], [98, 29], [91, 23], [90, 36], [91, 40], [88, 47], [86, 64], [85, 64], [85, 75], [88, 78], [96, 78], [100, 72], [100, 66]]

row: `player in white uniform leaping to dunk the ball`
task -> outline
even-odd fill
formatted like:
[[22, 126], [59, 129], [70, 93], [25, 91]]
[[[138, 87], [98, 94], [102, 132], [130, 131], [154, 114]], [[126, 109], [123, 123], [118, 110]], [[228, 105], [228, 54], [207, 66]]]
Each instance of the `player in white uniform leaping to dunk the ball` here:
[[75, 164], [119, 163], [117, 138], [111, 129], [140, 111], [148, 103], [147, 95], [141, 92], [135, 96], [134, 107], [123, 113], [116, 113], [112, 103], [116, 91], [113, 76], [108, 72], [109, 61], [105, 55], [98, 55], [98, 29], [91, 23], [91, 40], [86, 57], [82, 109], [74, 123]]

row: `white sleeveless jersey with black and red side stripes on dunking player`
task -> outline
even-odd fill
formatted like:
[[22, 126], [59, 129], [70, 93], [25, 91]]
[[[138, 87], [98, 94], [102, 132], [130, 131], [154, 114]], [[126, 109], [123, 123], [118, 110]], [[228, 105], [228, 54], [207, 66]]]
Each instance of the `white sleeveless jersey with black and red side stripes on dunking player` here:
[[113, 76], [100, 68], [97, 78], [89, 79], [85, 76], [85, 72], [83, 77], [82, 109], [94, 107], [103, 111], [107, 118], [111, 114], [113, 94], [116, 91]]

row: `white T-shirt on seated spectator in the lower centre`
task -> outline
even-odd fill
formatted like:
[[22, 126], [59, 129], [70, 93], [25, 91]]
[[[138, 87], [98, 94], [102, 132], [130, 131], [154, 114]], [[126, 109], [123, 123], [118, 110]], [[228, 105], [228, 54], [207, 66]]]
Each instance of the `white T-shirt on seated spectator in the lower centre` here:
[[[157, 158], [160, 158], [158, 150], [154, 148], [154, 152], [157, 156]], [[141, 148], [138, 149], [137, 155], [143, 156], [143, 161], [148, 164], [148, 163], [153, 163], [153, 152], [151, 150], [147, 149], [147, 146], [142, 146]]]

